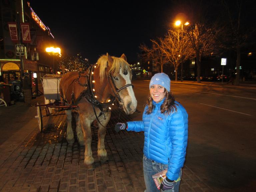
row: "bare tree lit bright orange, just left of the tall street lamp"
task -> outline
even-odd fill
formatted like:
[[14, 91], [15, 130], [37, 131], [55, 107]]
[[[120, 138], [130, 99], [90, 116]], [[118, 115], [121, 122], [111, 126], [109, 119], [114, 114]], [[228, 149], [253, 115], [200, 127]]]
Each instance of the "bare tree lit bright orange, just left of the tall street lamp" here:
[[173, 64], [175, 69], [175, 81], [178, 79], [178, 67], [182, 61], [193, 57], [188, 36], [183, 35], [181, 30], [169, 30], [165, 38], [158, 38], [158, 41], [152, 40], [154, 44], [165, 54], [168, 61]]

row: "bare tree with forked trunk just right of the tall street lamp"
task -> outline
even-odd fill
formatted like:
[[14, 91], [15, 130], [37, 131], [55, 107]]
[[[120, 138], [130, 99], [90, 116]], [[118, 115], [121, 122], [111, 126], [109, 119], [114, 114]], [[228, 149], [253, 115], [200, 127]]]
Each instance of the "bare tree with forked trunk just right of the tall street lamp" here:
[[187, 30], [187, 36], [190, 40], [193, 53], [196, 56], [198, 83], [200, 83], [202, 57], [208, 57], [217, 53], [217, 44], [215, 43], [216, 32], [214, 33], [213, 29], [197, 22], [194, 25], [190, 25]]

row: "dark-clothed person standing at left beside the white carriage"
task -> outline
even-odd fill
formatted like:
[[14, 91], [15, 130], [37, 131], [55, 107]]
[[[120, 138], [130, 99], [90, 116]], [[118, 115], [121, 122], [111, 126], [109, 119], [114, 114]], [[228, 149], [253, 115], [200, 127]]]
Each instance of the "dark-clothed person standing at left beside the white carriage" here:
[[24, 100], [25, 104], [28, 107], [31, 107], [31, 100], [32, 100], [32, 93], [31, 93], [31, 80], [29, 79], [29, 74], [27, 72], [24, 73], [23, 83], [22, 83], [22, 90], [24, 93]]

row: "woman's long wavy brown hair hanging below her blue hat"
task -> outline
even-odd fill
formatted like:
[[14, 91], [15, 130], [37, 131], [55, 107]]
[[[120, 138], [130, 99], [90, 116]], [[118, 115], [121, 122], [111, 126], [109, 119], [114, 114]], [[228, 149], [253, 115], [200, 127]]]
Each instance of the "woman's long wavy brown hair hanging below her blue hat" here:
[[[171, 92], [167, 91], [165, 88], [164, 88], [164, 92], [165, 92], [165, 100], [161, 105], [160, 110], [161, 110], [161, 113], [171, 114], [173, 111], [177, 111], [177, 107], [176, 107], [177, 104], [174, 103], [175, 98]], [[153, 98], [151, 97], [150, 92], [147, 99], [147, 105], [148, 105], [148, 110], [146, 111], [146, 114], [150, 114], [154, 109]]]

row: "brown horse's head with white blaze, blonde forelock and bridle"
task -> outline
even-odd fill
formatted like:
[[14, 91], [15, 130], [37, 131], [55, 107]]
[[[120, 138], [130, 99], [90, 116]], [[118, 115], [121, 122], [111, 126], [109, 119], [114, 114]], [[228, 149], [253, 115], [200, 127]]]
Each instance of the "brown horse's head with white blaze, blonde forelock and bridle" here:
[[[133, 92], [133, 85], [131, 84], [132, 71], [130, 65], [126, 61], [126, 56], [122, 54], [120, 58], [111, 57], [110, 55], [104, 55], [107, 60], [107, 66], [105, 69], [100, 70], [107, 73], [109, 76], [109, 83], [111, 84], [112, 94], [117, 97], [119, 103], [123, 105], [123, 109], [126, 114], [132, 114], [137, 107], [137, 100]], [[100, 59], [98, 60], [98, 64]], [[104, 67], [104, 65], [100, 66]], [[104, 76], [100, 74], [100, 76]]]

